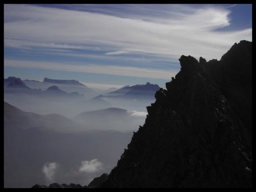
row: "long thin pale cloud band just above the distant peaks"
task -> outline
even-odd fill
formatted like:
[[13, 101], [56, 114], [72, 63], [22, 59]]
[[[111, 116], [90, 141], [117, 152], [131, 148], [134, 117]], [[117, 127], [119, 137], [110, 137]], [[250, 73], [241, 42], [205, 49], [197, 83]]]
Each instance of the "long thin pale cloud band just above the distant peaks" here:
[[5, 59], [5, 66], [15, 66], [17, 68], [37, 68], [50, 70], [63, 70], [69, 72], [84, 72], [98, 74], [112, 74], [116, 76], [130, 77], [148, 77], [170, 80], [177, 73], [176, 70], [158, 70], [137, 68], [130, 66], [114, 66], [114, 65], [97, 65], [97, 64], [65, 64], [62, 62], [47, 62], [47, 61], [18, 61]]

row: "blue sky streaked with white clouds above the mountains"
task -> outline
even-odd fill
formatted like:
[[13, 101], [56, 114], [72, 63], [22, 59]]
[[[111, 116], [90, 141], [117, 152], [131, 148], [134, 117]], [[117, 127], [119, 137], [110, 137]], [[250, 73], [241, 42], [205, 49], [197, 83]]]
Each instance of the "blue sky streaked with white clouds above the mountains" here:
[[181, 55], [220, 60], [240, 40], [250, 4], [5, 4], [4, 77], [165, 88]]

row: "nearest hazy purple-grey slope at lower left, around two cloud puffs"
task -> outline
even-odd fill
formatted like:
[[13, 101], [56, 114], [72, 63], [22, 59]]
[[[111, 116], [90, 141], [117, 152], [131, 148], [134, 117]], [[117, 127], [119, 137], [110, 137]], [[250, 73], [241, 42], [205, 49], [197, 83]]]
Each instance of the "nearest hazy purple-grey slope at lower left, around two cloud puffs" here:
[[[90, 178], [98, 173], [110, 172], [119, 153], [129, 143], [132, 132], [87, 130], [64, 116], [24, 112], [4, 102], [5, 187], [31, 187], [35, 183], [46, 183], [47, 178], [42, 172], [46, 162], [58, 165], [54, 180], [51, 180], [53, 184], [54, 181], [70, 181], [88, 185]], [[102, 162], [102, 169], [95, 173], [79, 171], [82, 161], [95, 158]]]

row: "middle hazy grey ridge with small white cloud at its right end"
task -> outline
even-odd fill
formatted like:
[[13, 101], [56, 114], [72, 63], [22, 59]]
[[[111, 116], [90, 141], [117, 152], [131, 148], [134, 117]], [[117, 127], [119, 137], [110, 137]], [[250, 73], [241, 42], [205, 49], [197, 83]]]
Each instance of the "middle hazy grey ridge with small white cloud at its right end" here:
[[106, 108], [86, 111], [69, 119], [59, 114], [25, 112], [4, 102], [5, 127], [39, 129], [45, 132], [79, 133], [93, 130], [135, 131], [144, 123], [146, 112]]

